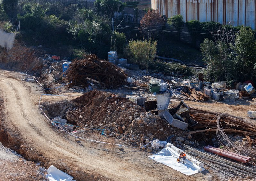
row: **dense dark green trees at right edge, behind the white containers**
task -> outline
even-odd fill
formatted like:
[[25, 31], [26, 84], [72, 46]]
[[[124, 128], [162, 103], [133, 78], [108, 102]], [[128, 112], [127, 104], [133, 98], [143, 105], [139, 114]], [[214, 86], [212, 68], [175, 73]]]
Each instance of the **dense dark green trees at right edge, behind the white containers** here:
[[222, 27], [220, 31], [225, 36], [221, 33], [215, 35], [215, 42], [205, 39], [201, 44], [208, 65], [205, 76], [211, 81], [255, 81], [256, 41], [252, 29], [241, 26], [234, 33], [235, 30]]

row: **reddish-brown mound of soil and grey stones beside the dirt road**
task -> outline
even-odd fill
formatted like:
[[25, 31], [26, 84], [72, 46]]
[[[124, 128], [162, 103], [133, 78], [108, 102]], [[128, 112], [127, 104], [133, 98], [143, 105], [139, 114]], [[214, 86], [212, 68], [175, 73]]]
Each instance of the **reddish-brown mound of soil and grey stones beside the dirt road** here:
[[[134, 146], [142, 147], [153, 139], [166, 141], [170, 135], [173, 136], [169, 142], [179, 148], [183, 148], [184, 143], [194, 144], [193, 141], [188, 141], [192, 137], [187, 135], [187, 132], [170, 126], [158, 115], [144, 112], [139, 105], [110, 92], [93, 90], [68, 104], [68, 122], [81, 127], [104, 129], [104, 135], [127, 141]], [[74, 104], [76, 106], [73, 108]], [[78, 127], [75, 130], [79, 129]], [[179, 141], [175, 140], [176, 138]], [[161, 144], [159, 145], [152, 148], [149, 144], [148, 151], [158, 151], [162, 148]]]

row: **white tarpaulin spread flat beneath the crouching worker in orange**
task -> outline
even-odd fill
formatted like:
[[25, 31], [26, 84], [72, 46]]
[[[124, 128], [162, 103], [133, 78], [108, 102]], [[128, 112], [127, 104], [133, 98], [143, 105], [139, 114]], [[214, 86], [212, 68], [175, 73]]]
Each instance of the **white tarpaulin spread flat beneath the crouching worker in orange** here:
[[184, 164], [182, 164], [183, 159], [181, 159], [181, 162], [178, 163], [177, 158], [179, 157], [179, 154], [169, 147], [164, 148], [160, 152], [148, 157], [155, 157], [155, 161], [171, 167], [172, 169], [177, 170], [185, 175], [193, 175], [205, 170], [204, 168], [197, 166], [196, 164], [188, 161], [187, 159], [185, 160]]

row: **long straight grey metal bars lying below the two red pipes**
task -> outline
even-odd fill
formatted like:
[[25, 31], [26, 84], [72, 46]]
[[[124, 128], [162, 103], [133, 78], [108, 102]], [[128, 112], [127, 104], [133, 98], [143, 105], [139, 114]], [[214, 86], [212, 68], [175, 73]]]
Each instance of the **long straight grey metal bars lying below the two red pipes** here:
[[[206, 152], [199, 151], [195, 148], [192, 148], [188, 145], [184, 145], [188, 148], [189, 153], [192, 156], [195, 156], [196, 159], [220, 172], [234, 178], [236, 175], [238, 176], [248, 176], [250, 175], [252, 178], [256, 178], [256, 169], [248, 166], [244, 166], [242, 164], [238, 164], [235, 162], [231, 162], [227, 159], [221, 158], [216, 155], [212, 155]], [[200, 159], [199, 159], [200, 157]], [[203, 160], [201, 160], [203, 159]], [[204, 161], [205, 160], [205, 161]], [[225, 170], [225, 171], [224, 171]]]

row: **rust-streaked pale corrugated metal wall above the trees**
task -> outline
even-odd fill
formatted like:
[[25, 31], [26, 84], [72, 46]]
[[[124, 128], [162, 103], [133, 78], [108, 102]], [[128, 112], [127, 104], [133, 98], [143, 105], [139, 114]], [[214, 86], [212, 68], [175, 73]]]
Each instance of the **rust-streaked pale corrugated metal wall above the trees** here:
[[255, 29], [255, 0], [151, 0], [151, 7], [166, 17], [181, 14], [184, 21], [215, 21]]

